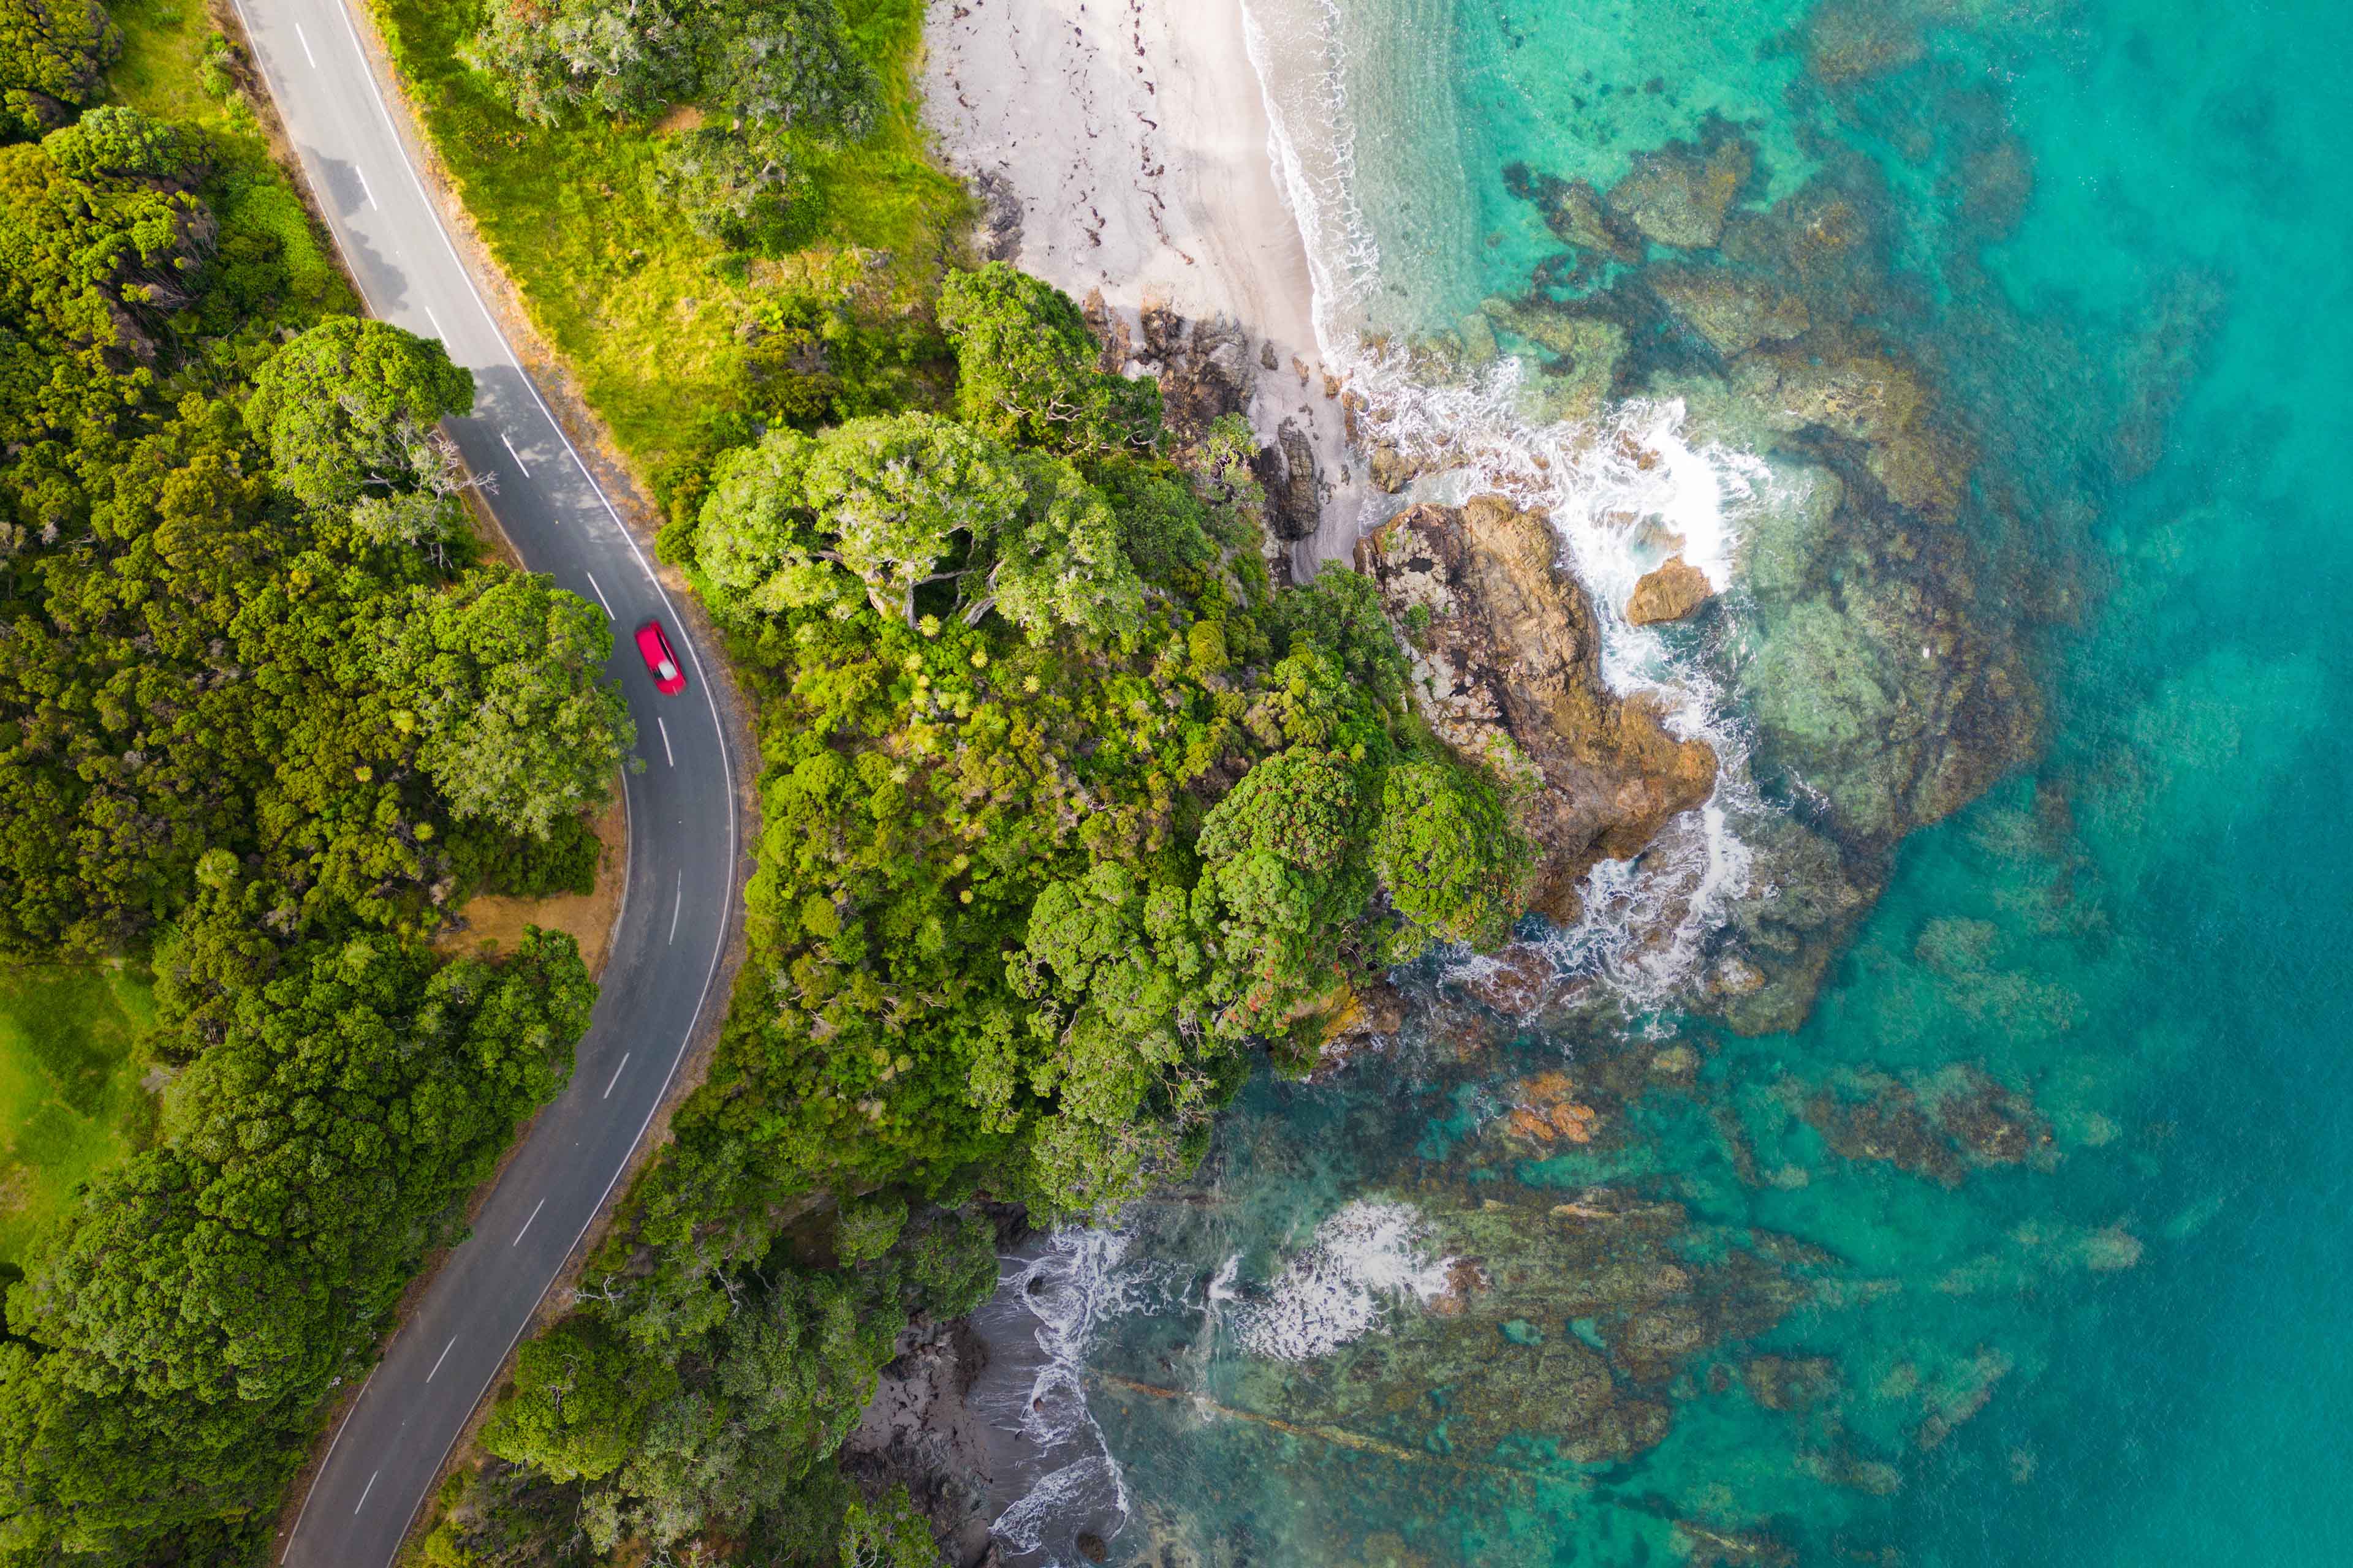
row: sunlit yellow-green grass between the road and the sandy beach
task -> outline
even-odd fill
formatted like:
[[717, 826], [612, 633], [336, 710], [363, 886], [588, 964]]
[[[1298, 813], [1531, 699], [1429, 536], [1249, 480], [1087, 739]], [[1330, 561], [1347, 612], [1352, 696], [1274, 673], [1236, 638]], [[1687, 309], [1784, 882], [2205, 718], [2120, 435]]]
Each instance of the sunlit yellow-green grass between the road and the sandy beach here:
[[809, 249], [744, 256], [694, 235], [647, 172], [656, 129], [581, 115], [541, 129], [511, 113], [459, 47], [480, 0], [372, 0], [426, 134], [532, 322], [640, 473], [694, 451], [741, 402], [741, 327], [781, 294], [854, 296], [861, 315], [922, 306], [967, 209], [927, 153], [913, 61], [920, 0], [849, 0], [887, 101], [856, 148], [824, 155]]

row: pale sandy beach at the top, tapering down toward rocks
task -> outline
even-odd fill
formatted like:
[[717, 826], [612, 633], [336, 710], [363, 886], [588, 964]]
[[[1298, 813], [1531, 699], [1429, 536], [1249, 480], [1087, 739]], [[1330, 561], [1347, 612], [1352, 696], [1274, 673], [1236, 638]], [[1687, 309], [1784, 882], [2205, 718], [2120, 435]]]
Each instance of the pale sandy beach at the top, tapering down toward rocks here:
[[1346, 559], [1369, 487], [1322, 378], [1242, 0], [932, 0], [925, 42], [925, 115], [953, 167], [1019, 195], [1024, 270], [1127, 313], [1231, 315], [1273, 346], [1252, 425], [1271, 442], [1299, 418], [1327, 487], [1294, 562]]

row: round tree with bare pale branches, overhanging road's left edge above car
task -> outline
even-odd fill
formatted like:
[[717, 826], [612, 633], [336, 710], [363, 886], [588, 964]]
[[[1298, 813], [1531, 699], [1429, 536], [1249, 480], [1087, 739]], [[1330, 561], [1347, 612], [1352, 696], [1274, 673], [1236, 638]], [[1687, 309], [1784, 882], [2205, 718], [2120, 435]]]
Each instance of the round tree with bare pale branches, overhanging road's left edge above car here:
[[473, 371], [391, 322], [329, 317], [254, 374], [245, 423], [308, 505], [409, 487], [445, 463], [433, 425], [473, 409]]

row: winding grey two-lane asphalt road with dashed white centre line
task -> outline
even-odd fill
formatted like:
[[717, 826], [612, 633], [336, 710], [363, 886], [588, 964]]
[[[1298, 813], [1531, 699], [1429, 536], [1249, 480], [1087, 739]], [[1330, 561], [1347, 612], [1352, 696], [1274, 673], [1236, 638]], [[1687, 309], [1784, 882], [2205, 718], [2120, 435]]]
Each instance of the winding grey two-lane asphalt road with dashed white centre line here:
[[[522, 374], [416, 176], [395, 110], [339, 0], [238, 0], [287, 134], [367, 308], [440, 339], [473, 371], [452, 433], [496, 475], [506, 536], [614, 623], [645, 769], [628, 778], [628, 891], [572, 1084], [532, 1126], [466, 1241], [400, 1328], [334, 1436], [285, 1547], [301, 1568], [393, 1561], [433, 1474], [565, 1255], [612, 1192], [711, 1009], [734, 907], [727, 731], [652, 564]], [[661, 696], [633, 632], [661, 618], [687, 689]]]

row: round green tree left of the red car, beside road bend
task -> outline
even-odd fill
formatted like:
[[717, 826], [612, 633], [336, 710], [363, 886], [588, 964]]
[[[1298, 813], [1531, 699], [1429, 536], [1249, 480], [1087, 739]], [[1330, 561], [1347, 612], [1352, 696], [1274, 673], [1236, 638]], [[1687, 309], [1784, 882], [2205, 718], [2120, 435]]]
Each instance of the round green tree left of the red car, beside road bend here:
[[544, 576], [475, 571], [391, 604], [384, 642], [391, 722], [456, 818], [546, 839], [612, 795], [638, 729], [593, 604]]

